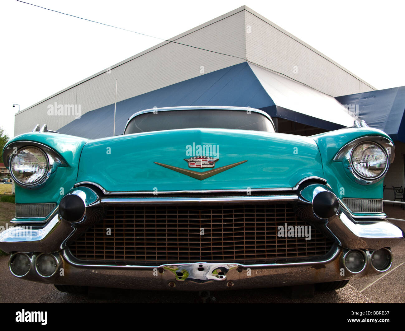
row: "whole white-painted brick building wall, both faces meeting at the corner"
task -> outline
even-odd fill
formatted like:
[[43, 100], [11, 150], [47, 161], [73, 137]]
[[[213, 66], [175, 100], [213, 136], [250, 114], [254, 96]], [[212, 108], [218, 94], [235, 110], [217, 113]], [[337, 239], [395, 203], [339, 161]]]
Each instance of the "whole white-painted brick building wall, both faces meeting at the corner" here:
[[[110, 72], [98, 72], [18, 112], [15, 135], [32, 131], [36, 124], [47, 124], [49, 129], [58, 130], [75, 119], [72, 115], [49, 116], [48, 105], [55, 102], [80, 105], [81, 115], [113, 104], [115, 79], [118, 79], [119, 102], [194, 78], [202, 74], [201, 67], [207, 74], [245, 59], [332, 96], [373, 89], [245, 6], [171, 40], [233, 56], [162, 42], [112, 66]], [[297, 73], [293, 71], [294, 66]]]

